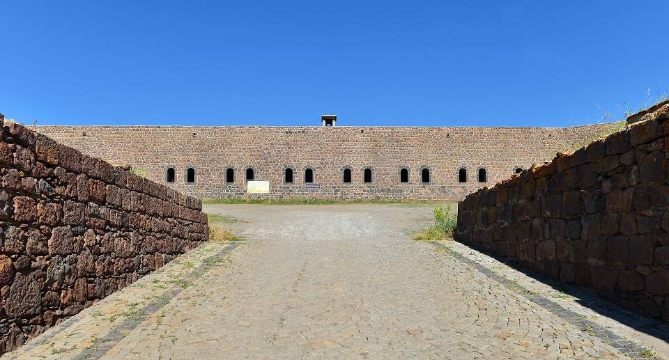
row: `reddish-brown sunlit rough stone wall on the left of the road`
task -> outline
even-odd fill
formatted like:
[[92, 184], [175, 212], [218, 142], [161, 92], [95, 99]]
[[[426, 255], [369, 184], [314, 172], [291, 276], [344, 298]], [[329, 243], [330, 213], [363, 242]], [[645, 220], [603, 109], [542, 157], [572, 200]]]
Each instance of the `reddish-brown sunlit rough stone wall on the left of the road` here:
[[0, 127], [0, 354], [207, 239], [197, 198]]

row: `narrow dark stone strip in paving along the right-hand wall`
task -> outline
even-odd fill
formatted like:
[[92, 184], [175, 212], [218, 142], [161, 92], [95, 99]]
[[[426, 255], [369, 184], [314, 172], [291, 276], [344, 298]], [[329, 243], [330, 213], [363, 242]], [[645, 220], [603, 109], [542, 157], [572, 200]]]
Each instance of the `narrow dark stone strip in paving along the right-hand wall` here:
[[[546, 297], [542, 297], [540, 295], [532, 293], [527, 288], [510, 281], [509, 279], [505, 278], [500, 274], [497, 274], [496, 272], [493, 272], [493, 270], [489, 269], [488, 267], [485, 267], [481, 263], [471, 260], [470, 258], [463, 256], [461, 253], [454, 251], [453, 249], [449, 248], [449, 246], [441, 244], [440, 242], [430, 242], [430, 244], [432, 244], [436, 248], [443, 247], [449, 249], [450, 251], [447, 253], [447, 256], [452, 256], [456, 260], [460, 260], [461, 262], [470, 265], [471, 267], [477, 269], [482, 274], [504, 285], [506, 288], [516, 290], [516, 292], [518, 292], [519, 295], [525, 297], [526, 299], [529, 299], [530, 302], [533, 302], [541, 306], [542, 308], [545, 308], [551, 313], [557, 315], [559, 318], [567, 320], [567, 322], [569, 322], [570, 324], [576, 325], [576, 327], [578, 327], [580, 331], [587, 332], [587, 334], [599, 338], [599, 340], [605, 341], [605, 343], [608, 342], [611, 347], [614, 347], [616, 350], [622, 352], [622, 354], [631, 357], [632, 359], [646, 359], [645, 357], [642, 357], [640, 354], [640, 352], [645, 349], [644, 346], [639, 345], [638, 343], [635, 343], [633, 341], [629, 341], [622, 336], [618, 336], [615, 333], [613, 333], [613, 331], [610, 331], [609, 329], [602, 327], [596, 322], [583, 319], [574, 311], [564, 308], [560, 306], [560, 304], [552, 302]], [[588, 327], [590, 327], [592, 333], [590, 333], [590, 331], [586, 331]]]

